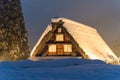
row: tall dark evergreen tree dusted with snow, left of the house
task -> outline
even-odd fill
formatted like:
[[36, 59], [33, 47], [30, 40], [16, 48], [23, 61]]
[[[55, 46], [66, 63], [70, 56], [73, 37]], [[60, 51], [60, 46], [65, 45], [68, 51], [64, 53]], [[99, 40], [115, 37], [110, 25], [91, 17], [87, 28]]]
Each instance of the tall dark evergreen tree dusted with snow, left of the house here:
[[28, 38], [20, 0], [0, 0], [0, 59], [15, 61], [28, 56]]

